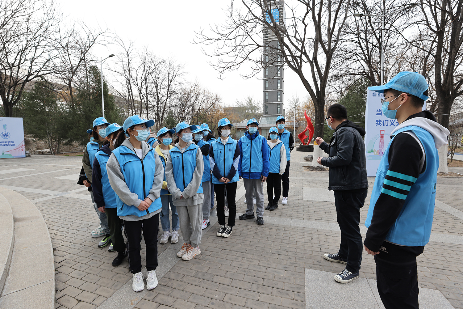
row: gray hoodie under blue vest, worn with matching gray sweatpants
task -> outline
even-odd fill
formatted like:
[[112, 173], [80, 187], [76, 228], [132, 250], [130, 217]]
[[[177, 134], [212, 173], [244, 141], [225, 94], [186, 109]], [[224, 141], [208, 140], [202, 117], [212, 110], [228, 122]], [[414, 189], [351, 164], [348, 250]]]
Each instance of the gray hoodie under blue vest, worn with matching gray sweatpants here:
[[[192, 141], [188, 142], [187, 145], [185, 146], [184, 149], [187, 149], [191, 144], [194, 144]], [[175, 147], [180, 149], [179, 143], [175, 144]], [[183, 151], [180, 149], [180, 151], [183, 153]], [[166, 162], [166, 180], [167, 180], [167, 188], [169, 189], [170, 194], [172, 195], [173, 198], [173, 203], [175, 206], [193, 206], [193, 205], [198, 205], [201, 204], [204, 200], [204, 194], [202, 193], [197, 193], [201, 181], [202, 181], [202, 174], [204, 170], [204, 161], [203, 161], [203, 156], [198, 149], [196, 151], [196, 168], [194, 169], [193, 172], [193, 179], [191, 180], [190, 183], [188, 183], [187, 187], [185, 190], [182, 192], [180, 189], [177, 188], [177, 184], [175, 183], [174, 179], [174, 168], [172, 165], [172, 158], [170, 157], [170, 151], [169, 151], [169, 156], [167, 157], [167, 162]], [[183, 195], [183, 198], [180, 198], [180, 196]]]

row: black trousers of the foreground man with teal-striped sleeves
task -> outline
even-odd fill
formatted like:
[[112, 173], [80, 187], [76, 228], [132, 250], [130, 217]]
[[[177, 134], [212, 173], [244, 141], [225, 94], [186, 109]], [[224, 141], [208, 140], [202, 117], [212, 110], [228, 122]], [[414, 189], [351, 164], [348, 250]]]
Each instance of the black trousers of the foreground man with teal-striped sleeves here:
[[416, 257], [424, 248], [382, 243], [375, 255], [376, 285], [386, 309], [418, 309]]

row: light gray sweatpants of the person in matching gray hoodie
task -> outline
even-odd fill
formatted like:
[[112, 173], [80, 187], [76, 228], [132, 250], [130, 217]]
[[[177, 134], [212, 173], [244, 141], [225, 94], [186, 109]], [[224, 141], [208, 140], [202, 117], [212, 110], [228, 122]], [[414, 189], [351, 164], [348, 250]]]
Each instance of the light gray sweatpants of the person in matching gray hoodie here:
[[201, 243], [202, 204], [177, 206], [183, 240], [195, 248]]

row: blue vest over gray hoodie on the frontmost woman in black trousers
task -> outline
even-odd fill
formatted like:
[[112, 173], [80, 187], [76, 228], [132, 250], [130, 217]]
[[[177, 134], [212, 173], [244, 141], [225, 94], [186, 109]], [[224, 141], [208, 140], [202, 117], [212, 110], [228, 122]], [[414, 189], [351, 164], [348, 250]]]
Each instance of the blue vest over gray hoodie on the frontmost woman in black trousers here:
[[[148, 153], [143, 158], [143, 161], [138, 156], [127, 148], [125, 145], [120, 145], [113, 150], [113, 155], [119, 162], [120, 171], [124, 176], [125, 183], [132, 193], [138, 195], [138, 199], [144, 200], [150, 194], [150, 189], [153, 186], [155, 178], [155, 157], [156, 151], [150, 146]], [[118, 216], [136, 215], [138, 217], [155, 212], [162, 207], [161, 198], [156, 198], [150, 205], [150, 208], [140, 211], [134, 205], [125, 204], [119, 196], [117, 200]]]

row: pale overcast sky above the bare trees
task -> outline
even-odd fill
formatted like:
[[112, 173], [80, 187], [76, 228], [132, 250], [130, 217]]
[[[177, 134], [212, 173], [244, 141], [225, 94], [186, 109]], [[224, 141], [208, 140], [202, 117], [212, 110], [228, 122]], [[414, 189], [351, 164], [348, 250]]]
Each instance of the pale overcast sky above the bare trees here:
[[[238, 4], [239, 1], [236, 1]], [[90, 27], [100, 26], [109, 29], [120, 38], [135, 42], [135, 46], [145, 45], [159, 57], [173, 56], [185, 65], [186, 79], [197, 80], [201, 86], [218, 93], [225, 106], [234, 105], [235, 101], [251, 95], [262, 101], [263, 82], [257, 78], [243, 79], [249, 73], [249, 67], [225, 74], [219, 79], [218, 72], [208, 62], [214, 58], [207, 57], [201, 46], [193, 44], [195, 31], [209, 29], [209, 25], [223, 23], [226, 8], [230, 0], [177, 0], [177, 1], [104, 1], [104, 0], [58, 0], [58, 4], [68, 21], [82, 21]], [[117, 45], [97, 46], [91, 52], [97, 57], [118, 54]], [[109, 58], [103, 66], [103, 74], [112, 82], [109, 68], [116, 57]], [[106, 71], [106, 72], [105, 72]], [[262, 76], [262, 74], [259, 74]], [[114, 83], [115, 85], [115, 83]], [[288, 100], [293, 95], [301, 99], [307, 91], [298, 76], [285, 68], [284, 104], [288, 110]]]

